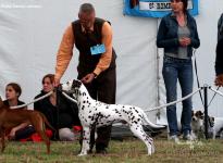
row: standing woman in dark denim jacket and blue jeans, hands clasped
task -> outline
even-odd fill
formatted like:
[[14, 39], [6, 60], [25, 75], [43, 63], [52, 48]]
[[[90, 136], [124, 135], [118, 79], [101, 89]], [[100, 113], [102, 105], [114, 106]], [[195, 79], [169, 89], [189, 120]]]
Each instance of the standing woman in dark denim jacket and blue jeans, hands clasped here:
[[[179, 82], [182, 97], [193, 92], [193, 48], [200, 46], [197, 25], [187, 12], [187, 0], [171, 0], [172, 12], [160, 23], [157, 46], [164, 48], [163, 79], [166, 90], [166, 102], [176, 100], [176, 85]], [[183, 138], [190, 140], [191, 98], [183, 101], [182, 131]], [[176, 104], [166, 108], [170, 139], [178, 141]]]

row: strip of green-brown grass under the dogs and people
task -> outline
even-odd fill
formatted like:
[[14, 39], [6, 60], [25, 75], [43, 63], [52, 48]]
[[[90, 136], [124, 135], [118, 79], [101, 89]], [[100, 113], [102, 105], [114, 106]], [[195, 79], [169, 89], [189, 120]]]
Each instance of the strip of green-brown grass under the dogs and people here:
[[109, 154], [77, 156], [78, 142], [51, 141], [51, 154], [42, 142], [8, 142], [0, 163], [223, 163], [223, 140], [202, 140], [179, 145], [154, 139], [156, 153], [148, 156], [146, 146], [138, 139], [110, 143]]

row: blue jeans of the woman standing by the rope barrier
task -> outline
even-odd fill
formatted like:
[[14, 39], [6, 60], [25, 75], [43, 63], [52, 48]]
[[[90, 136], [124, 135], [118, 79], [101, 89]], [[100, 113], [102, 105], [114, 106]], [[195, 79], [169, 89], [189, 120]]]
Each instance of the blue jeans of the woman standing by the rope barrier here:
[[[174, 59], [171, 57], [164, 57], [162, 75], [166, 90], [166, 102], [172, 102], [177, 99], [177, 79], [182, 88], [182, 97], [185, 97], [193, 92], [193, 63], [191, 59]], [[191, 130], [191, 97], [183, 101], [182, 110], [182, 131], [184, 135], [189, 134]], [[177, 116], [176, 104], [166, 108], [168, 123], [170, 128], [170, 135], [177, 135]]]

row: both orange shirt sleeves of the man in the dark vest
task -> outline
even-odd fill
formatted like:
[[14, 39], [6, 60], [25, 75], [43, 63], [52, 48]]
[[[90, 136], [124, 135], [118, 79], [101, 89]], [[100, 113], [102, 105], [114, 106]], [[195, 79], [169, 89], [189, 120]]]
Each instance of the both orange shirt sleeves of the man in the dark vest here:
[[[69, 66], [73, 55], [74, 43], [75, 38], [73, 34], [73, 27], [72, 24], [70, 24], [63, 34], [63, 38], [57, 54], [55, 78], [58, 79], [63, 76], [65, 70]], [[108, 22], [104, 22], [102, 26], [102, 43], [106, 46], [106, 52], [101, 54], [101, 58], [95, 71], [92, 72], [97, 75], [109, 67], [112, 59], [112, 29]]]

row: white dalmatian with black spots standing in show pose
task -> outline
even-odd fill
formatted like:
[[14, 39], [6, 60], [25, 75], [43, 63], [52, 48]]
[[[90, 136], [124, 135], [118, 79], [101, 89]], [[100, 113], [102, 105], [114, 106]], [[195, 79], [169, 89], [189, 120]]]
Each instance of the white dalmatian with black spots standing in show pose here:
[[152, 128], [163, 128], [164, 126], [151, 123], [140, 108], [96, 101], [89, 96], [84, 84], [75, 79], [62, 84], [61, 89], [69, 95], [72, 93], [77, 101], [78, 116], [83, 126], [83, 145], [78, 155], [86, 155], [89, 151], [92, 127], [101, 127], [123, 121], [129, 125], [133, 134], [146, 143], [148, 154], [151, 155], [154, 152], [153, 140], [144, 131], [143, 122], [146, 122]]

